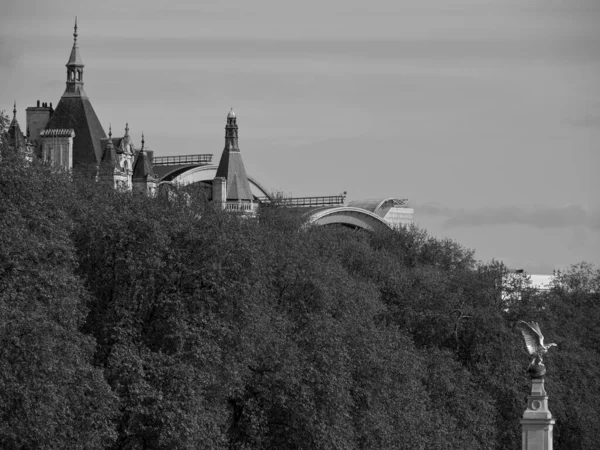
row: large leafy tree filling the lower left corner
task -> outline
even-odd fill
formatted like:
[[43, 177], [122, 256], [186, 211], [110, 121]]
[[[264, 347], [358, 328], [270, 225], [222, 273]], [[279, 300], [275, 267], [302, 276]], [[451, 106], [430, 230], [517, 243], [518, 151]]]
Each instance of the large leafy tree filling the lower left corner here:
[[12, 152], [0, 159], [0, 446], [104, 448], [116, 398], [79, 331], [87, 293], [74, 275], [64, 176]]

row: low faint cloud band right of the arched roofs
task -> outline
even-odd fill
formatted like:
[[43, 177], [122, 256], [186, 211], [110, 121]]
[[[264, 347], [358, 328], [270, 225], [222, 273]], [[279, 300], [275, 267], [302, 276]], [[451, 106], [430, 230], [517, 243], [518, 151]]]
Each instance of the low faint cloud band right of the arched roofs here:
[[586, 210], [579, 205], [501, 206], [478, 209], [452, 209], [435, 203], [416, 206], [417, 214], [446, 217], [444, 228], [493, 225], [524, 225], [535, 228], [583, 226], [600, 231], [600, 209]]

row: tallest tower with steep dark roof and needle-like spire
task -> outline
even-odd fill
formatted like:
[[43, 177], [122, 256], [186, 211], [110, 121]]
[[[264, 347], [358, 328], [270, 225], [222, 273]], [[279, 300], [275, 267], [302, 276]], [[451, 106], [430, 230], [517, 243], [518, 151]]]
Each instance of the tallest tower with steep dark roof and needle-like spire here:
[[102, 159], [101, 139], [106, 138], [106, 134], [83, 89], [84, 64], [79, 53], [77, 36], [77, 19], [75, 19], [73, 47], [66, 64], [65, 92], [56, 105], [56, 110], [52, 113], [45, 131], [41, 133], [42, 147], [47, 139], [60, 134], [57, 130], [72, 130], [74, 136], [70, 163], [65, 165], [64, 160], [51, 162], [65, 169], [73, 167], [74, 170], [82, 170], [89, 166], [90, 169], [95, 170]]

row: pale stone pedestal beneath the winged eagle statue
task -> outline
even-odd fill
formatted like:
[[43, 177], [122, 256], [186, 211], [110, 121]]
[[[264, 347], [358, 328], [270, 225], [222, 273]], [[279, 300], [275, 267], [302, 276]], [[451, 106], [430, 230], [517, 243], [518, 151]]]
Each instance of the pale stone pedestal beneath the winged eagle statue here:
[[555, 420], [548, 410], [548, 394], [543, 378], [532, 378], [531, 395], [521, 419], [523, 450], [552, 450], [552, 428]]

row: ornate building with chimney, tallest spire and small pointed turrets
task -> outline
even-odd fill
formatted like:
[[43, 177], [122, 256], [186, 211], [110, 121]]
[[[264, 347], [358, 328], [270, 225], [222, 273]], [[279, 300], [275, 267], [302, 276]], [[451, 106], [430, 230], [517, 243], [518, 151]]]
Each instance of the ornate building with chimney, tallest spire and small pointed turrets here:
[[37, 102], [27, 108], [27, 142], [44, 161], [74, 173], [94, 175], [116, 189], [139, 190], [151, 195], [158, 178], [152, 154], [137, 150], [125, 125], [122, 137], [108, 137], [84, 89], [84, 67], [77, 43], [77, 19], [73, 47], [67, 61], [66, 87], [56, 108]]

